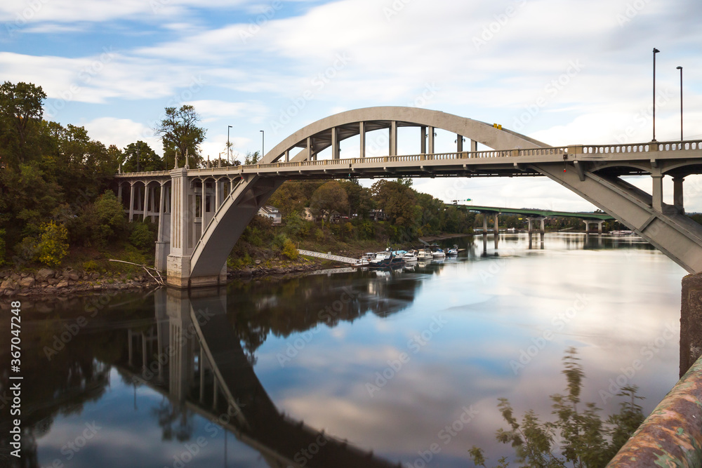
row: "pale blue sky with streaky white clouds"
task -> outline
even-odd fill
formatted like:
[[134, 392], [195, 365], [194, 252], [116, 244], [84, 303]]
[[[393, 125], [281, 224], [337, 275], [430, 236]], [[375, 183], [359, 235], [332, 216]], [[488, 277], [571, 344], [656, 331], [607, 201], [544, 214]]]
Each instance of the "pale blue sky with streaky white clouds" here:
[[[681, 65], [685, 137], [702, 139], [700, 13], [697, 0], [10, 0], [0, 4], [0, 74], [41, 85], [48, 119], [159, 153], [152, 129], [164, 107], [182, 103], [201, 115], [201, 150], [213, 158], [228, 125], [245, 154], [260, 149], [260, 130], [270, 149], [317, 119], [376, 105], [501, 123], [552, 145], [596, 144], [651, 139], [656, 47], [656, 138], [679, 138]], [[369, 135], [370, 151], [383, 154], [373, 138], [382, 135]], [[418, 152], [411, 135], [400, 138], [401, 152]], [[454, 139], [439, 133], [437, 151]], [[347, 145], [342, 157], [357, 151]], [[634, 182], [650, 189], [648, 178]], [[592, 208], [541, 178], [415, 187], [446, 201]], [[686, 180], [688, 210], [702, 210], [701, 189]]]

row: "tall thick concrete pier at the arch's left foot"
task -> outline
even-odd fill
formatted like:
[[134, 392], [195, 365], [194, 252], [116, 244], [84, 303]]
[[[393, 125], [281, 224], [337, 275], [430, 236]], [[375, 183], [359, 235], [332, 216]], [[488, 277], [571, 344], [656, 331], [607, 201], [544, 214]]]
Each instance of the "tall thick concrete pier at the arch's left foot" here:
[[194, 248], [192, 225], [194, 198], [186, 169], [171, 171], [171, 253], [168, 254], [168, 285], [190, 286], [190, 255]]

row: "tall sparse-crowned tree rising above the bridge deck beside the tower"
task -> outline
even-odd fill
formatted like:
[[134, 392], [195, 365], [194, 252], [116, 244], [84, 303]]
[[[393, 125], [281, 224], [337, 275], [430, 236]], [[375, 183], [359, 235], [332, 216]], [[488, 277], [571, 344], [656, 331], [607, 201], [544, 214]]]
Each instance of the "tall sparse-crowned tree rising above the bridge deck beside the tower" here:
[[167, 168], [175, 165], [176, 151], [179, 166], [183, 166], [185, 154], [188, 155], [187, 165], [191, 168], [201, 167], [202, 156], [199, 145], [205, 139], [206, 131], [197, 126], [200, 116], [192, 105], [166, 107], [166, 116], [154, 130], [164, 143], [164, 160]]

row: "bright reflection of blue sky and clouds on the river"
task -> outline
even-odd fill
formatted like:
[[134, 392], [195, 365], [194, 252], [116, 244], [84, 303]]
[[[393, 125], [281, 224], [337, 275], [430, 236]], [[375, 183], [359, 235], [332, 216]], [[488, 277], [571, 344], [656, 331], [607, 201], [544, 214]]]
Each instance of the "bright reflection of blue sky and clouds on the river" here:
[[[459, 408], [472, 404], [479, 415], [442, 448], [437, 460], [465, 457], [474, 444], [496, 460], [510, 452], [494, 439], [496, 429], [505, 426], [496, 408], [499, 396], [510, 399], [517, 415], [532, 408], [549, 418], [548, 396], [564, 393], [566, 387], [561, 374], [564, 349], [575, 346], [586, 376], [583, 401], [603, 406], [600, 389], [607, 389], [609, 379], [635, 359], [644, 361], [642, 348], [679, 319], [682, 270], [660, 253], [565, 250], [569, 246], [582, 248], [583, 243], [557, 241], [556, 248], [563, 250], [543, 250], [536, 256], [515, 250], [510, 258], [444, 265], [440, 277], [422, 276], [416, 299], [402, 314], [392, 319], [364, 316], [345, 328], [343, 346], [320, 344], [310, 356], [298, 358], [296, 372], [329, 370], [333, 379], [274, 389], [265, 384], [263, 372], [264, 387], [272, 396], [280, 395], [279, 407], [313, 426], [404, 461], [435, 442]], [[480, 272], [495, 261], [502, 261], [501, 267], [482, 281]], [[555, 321], [574, 307], [578, 294], [587, 297], [586, 307], [557, 329]], [[420, 352], [409, 353], [409, 362], [370, 398], [364, 384], [388, 367], [388, 359], [406, 352], [406, 340], [435, 314], [442, 314], [449, 326]], [[545, 330], [552, 331], [552, 338], [515, 375], [510, 360], [519, 359], [519, 352]], [[677, 381], [677, 337], [630, 379], [647, 397], [645, 410]], [[604, 408], [611, 413], [618, 403], [607, 401]]]

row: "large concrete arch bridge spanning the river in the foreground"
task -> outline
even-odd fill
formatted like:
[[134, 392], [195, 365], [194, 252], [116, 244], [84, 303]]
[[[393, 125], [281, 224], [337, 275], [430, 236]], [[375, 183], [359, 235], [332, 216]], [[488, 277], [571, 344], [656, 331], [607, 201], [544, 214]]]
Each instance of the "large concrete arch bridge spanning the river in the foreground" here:
[[[398, 154], [398, 128], [416, 128], [415, 154]], [[456, 134], [456, 152], [435, 152], [435, 130]], [[388, 132], [388, 155], [366, 156], [366, 134]], [[403, 130], [403, 132], [405, 132]], [[359, 137], [359, 157], [340, 142]], [[470, 145], [463, 147], [465, 138]], [[477, 143], [491, 150], [478, 151]], [[331, 148], [331, 158], [318, 155]], [[565, 169], [565, 171], [564, 171]], [[129, 218], [159, 220], [156, 265], [178, 288], [226, 279], [244, 228], [285, 180], [374, 177], [545, 176], [623, 222], [688, 272], [702, 272], [702, 226], [684, 216], [683, 181], [702, 173], [702, 140], [550, 147], [488, 123], [414, 107], [367, 107], [301, 128], [258, 164], [117, 174]], [[646, 192], [621, 178], [650, 175]], [[663, 178], [673, 178], [673, 204]]]

